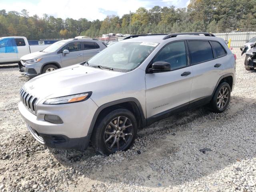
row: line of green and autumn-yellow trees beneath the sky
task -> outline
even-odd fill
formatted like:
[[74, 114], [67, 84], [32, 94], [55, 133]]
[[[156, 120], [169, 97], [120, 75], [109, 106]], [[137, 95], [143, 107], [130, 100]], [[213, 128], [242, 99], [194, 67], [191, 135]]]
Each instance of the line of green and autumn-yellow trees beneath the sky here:
[[256, 1], [190, 0], [186, 8], [154, 6], [147, 10], [140, 7], [131, 15], [110, 15], [103, 21], [62, 19], [47, 14], [40, 18], [29, 16], [25, 9], [21, 12], [0, 10], [0, 36], [26, 36], [29, 40], [79, 35], [94, 38], [108, 33], [173, 33], [177, 28], [178, 32], [255, 31]]

